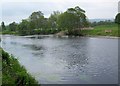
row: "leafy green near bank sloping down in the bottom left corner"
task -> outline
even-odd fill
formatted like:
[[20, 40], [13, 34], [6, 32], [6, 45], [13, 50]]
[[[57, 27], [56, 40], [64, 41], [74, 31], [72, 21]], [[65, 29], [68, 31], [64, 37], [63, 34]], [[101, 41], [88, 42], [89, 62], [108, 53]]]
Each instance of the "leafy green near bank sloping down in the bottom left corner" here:
[[27, 73], [23, 66], [20, 66], [17, 59], [9, 55], [3, 49], [2, 52], [2, 84], [12, 84], [13, 86], [38, 86], [38, 82]]

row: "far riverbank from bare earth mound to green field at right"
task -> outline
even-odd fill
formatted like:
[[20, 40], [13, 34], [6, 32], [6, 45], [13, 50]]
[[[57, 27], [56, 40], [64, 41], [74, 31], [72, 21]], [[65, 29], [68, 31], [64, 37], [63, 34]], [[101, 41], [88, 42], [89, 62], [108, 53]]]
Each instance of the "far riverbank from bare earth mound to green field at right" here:
[[80, 29], [77, 30], [77, 35], [67, 35], [67, 31], [61, 31], [55, 36], [57, 37], [96, 37], [96, 38], [120, 38], [119, 29], [117, 24], [111, 25], [98, 25], [93, 27], [92, 29]]

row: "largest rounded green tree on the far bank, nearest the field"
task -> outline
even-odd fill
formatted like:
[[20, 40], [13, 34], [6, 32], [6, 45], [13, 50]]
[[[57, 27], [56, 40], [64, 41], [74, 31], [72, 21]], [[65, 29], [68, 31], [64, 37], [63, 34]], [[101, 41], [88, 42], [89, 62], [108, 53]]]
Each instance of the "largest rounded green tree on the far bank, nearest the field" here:
[[88, 26], [85, 11], [79, 6], [69, 8], [58, 17], [59, 28], [76, 29]]

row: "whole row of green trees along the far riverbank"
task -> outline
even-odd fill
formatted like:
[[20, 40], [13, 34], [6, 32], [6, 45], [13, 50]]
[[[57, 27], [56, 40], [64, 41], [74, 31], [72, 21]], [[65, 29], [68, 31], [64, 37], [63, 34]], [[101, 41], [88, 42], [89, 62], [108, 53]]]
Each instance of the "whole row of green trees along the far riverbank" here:
[[54, 34], [61, 30], [70, 32], [88, 26], [85, 11], [79, 6], [68, 8], [65, 12], [54, 11], [49, 18], [45, 18], [41, 11], [37, 11], [20, 23], [12, 22], [7, 26], [4, 22], [1, 23], [3, 32], [13, 32], [19, 35]]

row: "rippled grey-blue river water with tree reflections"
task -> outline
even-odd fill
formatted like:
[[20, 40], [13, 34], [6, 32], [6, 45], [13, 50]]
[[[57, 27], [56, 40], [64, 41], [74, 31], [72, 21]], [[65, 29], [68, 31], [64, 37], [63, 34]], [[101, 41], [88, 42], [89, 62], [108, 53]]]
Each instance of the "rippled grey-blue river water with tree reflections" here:
[[118, 40], [3, 36], [2, 47], [42, 84], [115, 84]]

